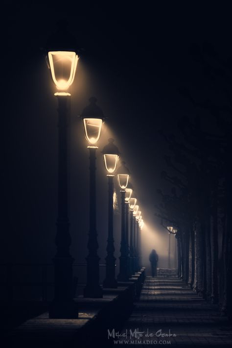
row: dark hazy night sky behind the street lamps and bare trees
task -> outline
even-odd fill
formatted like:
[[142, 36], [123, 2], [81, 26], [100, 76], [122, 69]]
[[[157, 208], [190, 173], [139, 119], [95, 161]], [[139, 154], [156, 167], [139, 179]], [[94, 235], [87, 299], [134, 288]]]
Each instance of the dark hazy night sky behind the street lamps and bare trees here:
[[[95, 96], [107, 117], [97, 156], [99, 254], [105, 257], [107, 180], [101, 149], [115, 138], [132, 182], [144, 221], [155, 224], [157, 188], [169, 153], [159, 129], [181, 137], [180, 117], [195, 110], [178, 92], [187, 86], [205, 95], [212, 87], [192, 57], [192, 47], [212, 44], [222, 58], [232, 53], [229, 8], [211, 2], [154, 2], [125, 6], [69, 1], [15, 4], [7, 1], [1, 74], [3, 152], [3, 221], [1, 261], [50, 262], [55, 253], [57, 199], [57, 114], [55, 88], [43, 56], [45, 42], [58, 19], [66, 19], [83, 53], [71, 87], [70, 222], [71, 252], [85, 262], [88, 231], [88, 151], [80, 118]], [[6, 47], [6, 48], [5, 48]], [[205, 126], [213, 130], [210, 120]], [[119, 192], [117, 191], [119, 194]], [[119, 217], [115, 219], [119, 226]], [[104, 241], [104, 243], [101, 241]], [[116, 236], [116, 242], [119, 236]], [[119, 244], [119, 243], [117, 243]], [[78, 248], [79, 247], [79, 248]], [[118, 246], [116, 247], [118, 252]]]

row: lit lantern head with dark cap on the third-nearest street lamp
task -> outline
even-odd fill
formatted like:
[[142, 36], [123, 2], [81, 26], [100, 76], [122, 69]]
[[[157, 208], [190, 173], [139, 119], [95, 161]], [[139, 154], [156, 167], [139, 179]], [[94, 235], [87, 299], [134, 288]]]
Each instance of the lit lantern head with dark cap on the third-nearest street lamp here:
[[103, 153], [106, 170], [109, 173], [108, 175], [113, 175], [115, 172], [119, 158], [119, 151], [114, 144], [114, 141], [113, 138], [108, 139], [109, 144], [107, 144], [101, 151]]

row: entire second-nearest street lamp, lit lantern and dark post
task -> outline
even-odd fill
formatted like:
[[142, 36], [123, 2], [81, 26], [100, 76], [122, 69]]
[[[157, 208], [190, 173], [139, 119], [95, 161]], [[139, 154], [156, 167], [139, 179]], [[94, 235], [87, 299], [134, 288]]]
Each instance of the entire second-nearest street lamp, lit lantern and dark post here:
[[97, 99], [92, 97], [89, 99], [88, 105], [82, 112], [82, 119], [85, 129], [85, 136], [90, 144], [90, 229], [88, 249], [89, 254], [87, 260], [87, 283], [84, 288], [85, 298], [102, 298], [102, 288], [99, 285], [99, 256], [97, 255], [97, 231], [96, 231], [96, 178], [95, 178], [95, 160], [96, 146], [99, 140], [102, 120], [104, 118], [102, 110], [96, 105]]

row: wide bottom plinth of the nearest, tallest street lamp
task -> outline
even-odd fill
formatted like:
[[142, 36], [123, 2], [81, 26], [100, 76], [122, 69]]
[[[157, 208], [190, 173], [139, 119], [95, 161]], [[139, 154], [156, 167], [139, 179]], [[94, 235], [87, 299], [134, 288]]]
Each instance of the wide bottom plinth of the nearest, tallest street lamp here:
[[74, 300], [69, 302], [52, 301], [49, 308], [49, 318], [77, 319], [78, 305]]

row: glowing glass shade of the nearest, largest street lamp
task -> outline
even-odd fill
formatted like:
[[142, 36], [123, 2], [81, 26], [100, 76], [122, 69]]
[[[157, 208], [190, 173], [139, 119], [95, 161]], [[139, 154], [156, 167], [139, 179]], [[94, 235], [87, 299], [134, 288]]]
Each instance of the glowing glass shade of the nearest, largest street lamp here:
[[57, 89], [66, 91], [74, 80], [78, 55], [69, 51], [50, 51], [48, 59], [51, 76]]

